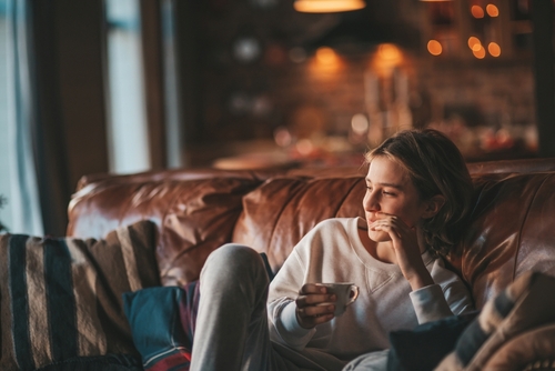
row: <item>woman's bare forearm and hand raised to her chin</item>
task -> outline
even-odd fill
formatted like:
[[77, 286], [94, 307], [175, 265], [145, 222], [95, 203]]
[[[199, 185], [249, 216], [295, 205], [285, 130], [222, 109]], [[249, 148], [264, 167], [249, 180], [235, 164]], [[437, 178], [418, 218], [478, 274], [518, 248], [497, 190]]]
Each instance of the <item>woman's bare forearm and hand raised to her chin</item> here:
[[418, 244], [416, 228], [408, 227], [403, 220], [392, 214], [380, 212], [377, 215], [380, 219], [369, 228], [390, 234], [397, 265], [411, 288], [416, 290], [433, 284], [434, 281], [422, 260], [423, 251]]

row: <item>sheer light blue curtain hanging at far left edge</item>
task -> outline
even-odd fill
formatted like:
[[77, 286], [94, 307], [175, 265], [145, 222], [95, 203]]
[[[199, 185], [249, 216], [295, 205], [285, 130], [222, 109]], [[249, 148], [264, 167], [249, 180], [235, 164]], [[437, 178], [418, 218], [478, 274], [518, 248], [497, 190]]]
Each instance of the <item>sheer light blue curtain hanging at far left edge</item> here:
[[36, 126], [34, 77], [32, 56], [31, 0], [0, 0], [7, 24], [7, 133], [12, 233], [42, 235], [39, 190], [32, 150]]

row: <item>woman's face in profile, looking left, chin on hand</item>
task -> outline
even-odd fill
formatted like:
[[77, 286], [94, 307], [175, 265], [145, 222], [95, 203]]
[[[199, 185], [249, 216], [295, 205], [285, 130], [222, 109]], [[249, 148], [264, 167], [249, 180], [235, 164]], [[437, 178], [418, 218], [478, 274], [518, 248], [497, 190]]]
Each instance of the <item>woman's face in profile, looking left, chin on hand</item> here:
[[[427, 203], [422, 202], [406, 169], [386, 157], [372, 160], [362, 204], [369, 224], [383, 218], [383, 214], [392, 214], [411, 228], [418, 224], [427, 209]], [[370, 229], [369, 237], [375, 242], [391, 240], [386, 232]]]

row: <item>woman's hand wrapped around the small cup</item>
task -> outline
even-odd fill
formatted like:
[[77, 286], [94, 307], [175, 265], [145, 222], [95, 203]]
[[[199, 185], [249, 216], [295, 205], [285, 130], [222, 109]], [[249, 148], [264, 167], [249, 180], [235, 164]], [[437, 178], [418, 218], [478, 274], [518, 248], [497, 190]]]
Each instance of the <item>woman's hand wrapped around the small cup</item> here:
[[[296, 320], [304, 329], [312, 329], [316, 324], [325, 323], [333, 318], [337, 298], [329, 294], [327, 288], [316, 283], [305, 283], [299, 291], [296, 303]], [[322, 305], [322, 303], [332, 303]], [[320, 305], [319, 305], [320, 304]]]

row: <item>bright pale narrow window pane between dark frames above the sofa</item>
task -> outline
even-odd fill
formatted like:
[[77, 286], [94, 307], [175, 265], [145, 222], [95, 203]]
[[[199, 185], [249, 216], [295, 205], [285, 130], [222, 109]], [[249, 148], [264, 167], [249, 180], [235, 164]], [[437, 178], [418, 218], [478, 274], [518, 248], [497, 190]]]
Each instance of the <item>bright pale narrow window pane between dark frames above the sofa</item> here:
[[139, 0], [105, 0], [110, 171], [151, 168], [144, 100]]

